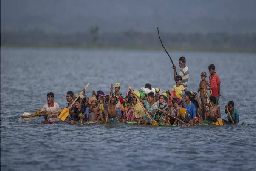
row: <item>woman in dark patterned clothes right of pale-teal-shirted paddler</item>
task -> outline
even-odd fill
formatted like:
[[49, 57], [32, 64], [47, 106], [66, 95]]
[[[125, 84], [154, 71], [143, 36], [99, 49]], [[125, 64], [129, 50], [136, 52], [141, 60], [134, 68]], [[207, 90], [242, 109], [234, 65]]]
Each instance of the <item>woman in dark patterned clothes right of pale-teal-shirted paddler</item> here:
[[[164, 99], [165, 99], [164, 95], [159, 96], [158, 108], [168, 112], [167, 102]], [[159, 123], [159, 124], [162, 123], [162, 124], [165, 124], [165, 125], [169, 125], [168, 121], [166, 120], [165, 114], [163, 112], [160, 112], [159, 110], [156, 111], [156, 122]]]

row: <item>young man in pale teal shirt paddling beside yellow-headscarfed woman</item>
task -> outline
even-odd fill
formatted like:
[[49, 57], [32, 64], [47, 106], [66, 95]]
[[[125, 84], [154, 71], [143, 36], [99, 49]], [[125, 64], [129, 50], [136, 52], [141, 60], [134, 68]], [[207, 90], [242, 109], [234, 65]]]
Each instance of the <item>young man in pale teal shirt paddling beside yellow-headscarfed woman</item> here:
[[[151, 117], [152, 120], [154, 120], [155, 114], [156, 114], [156, 109], [158, 109], [157, 105], [154, 104], [154, 97], [155, 97], [155, 94], [151, 91], [150, 93], [148, 93], [148, 100], [139, 99], [141, 101], [141, 103], [144, 103], [145, 112], [147, 112], [149, 114], [149, 116]], [[137, 103], [139, 103], [139, 102], [137, 102]], [[139, 119], [138, 125], [140, 125], [140, 124], [144, 124], [144, 125], [151, 124], [151, 120], [150, 120], [150, 118], [148, 118], [147, 114], [144, 119]]]

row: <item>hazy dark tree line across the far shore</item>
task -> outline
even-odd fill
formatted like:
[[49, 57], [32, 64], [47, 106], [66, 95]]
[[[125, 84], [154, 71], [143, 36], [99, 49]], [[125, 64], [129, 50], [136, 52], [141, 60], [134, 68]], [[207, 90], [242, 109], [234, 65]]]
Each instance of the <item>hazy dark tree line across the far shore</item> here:
[[[161, 33], [166, 47], [173, 49], [234, 49], [256, 52], [255, 33]], [[86, 32], [46, 33], [44, 30], [1, 32], [1, 46], [128, 46], [159, 47], [156, 33], [129, 30], [119, 33], [99, 33], [97, 26]]]

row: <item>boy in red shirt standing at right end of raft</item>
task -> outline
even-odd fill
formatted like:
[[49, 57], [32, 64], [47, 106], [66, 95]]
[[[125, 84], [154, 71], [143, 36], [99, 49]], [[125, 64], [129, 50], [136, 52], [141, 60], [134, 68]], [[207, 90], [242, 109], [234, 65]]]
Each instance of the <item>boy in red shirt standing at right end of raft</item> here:
[[218, 105], [219, 98], [220, 98], [220, 83], [221, 83], [221, 81], [220, 81], [219, 76], [215, 72], [214, 64], [210, 64], [208, 66], [208, 69], [209, 69], [209, 73], [210, 73], [209, 82], [212, 87], [212, 94], [210, 94], [210, 95], [216, 97], [216, 105]]

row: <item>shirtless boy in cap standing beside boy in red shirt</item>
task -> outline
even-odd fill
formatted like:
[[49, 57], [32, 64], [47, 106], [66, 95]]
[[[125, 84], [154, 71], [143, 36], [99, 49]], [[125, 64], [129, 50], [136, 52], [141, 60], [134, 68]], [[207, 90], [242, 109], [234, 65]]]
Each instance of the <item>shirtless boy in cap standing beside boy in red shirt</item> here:
[[[201, 79], [202, 81], [199, 83], [199, 87], [197, 92], [200, 91], [200, 98], [201, 98], [201, 103], [202, 103], [202, 113], [203, 113], [203, 119], [207, 120], [206, 118], [206, 108], [204, 105], [204, 101], [205, 101], [205, 90], [210, 90], [212, 89], [211, 85], [208, 83], [208, 81], [205, 80], [206, 78], [206, 72], [202, 72], [201, 73]], [[209, 88], [207, 88], [209, 86]]]

